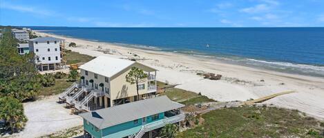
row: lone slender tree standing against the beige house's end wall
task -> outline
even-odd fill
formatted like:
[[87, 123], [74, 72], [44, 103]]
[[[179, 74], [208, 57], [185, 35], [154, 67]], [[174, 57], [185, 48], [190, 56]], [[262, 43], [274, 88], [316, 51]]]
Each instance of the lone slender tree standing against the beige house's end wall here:
[[126, 75], [126, 82], [136, 84], [137, 99], [135, 100], [140, 100], [140, 93], [138, 93], [138, 83], [143, 82], [144, 78], [147, 78], [147, 74], [144, 73], [142, 69], [138, 69], [137, 67], [132, 67], [131, 71], [129, 71]]

